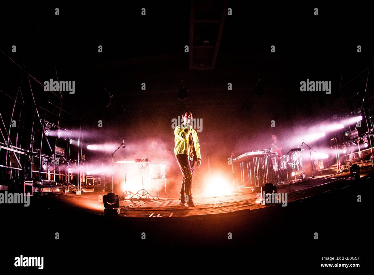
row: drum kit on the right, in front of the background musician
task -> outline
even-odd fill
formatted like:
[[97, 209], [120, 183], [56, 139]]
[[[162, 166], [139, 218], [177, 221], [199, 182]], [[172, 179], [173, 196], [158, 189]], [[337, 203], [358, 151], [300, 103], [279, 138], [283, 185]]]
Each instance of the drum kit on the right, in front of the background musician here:
[[274, 158], [272, 158], [272, 166], [278, 183], [283, 181], [280, 174], [285, 173], [287, 175], [287, 180], [289, 180], [289, 171], [291, 172], [291, 180], [306, 178], [303, 168], [303, 159], [301, 158], [301, 148], [293, 148], [289, 150], [287, 155], [276, 155]]

